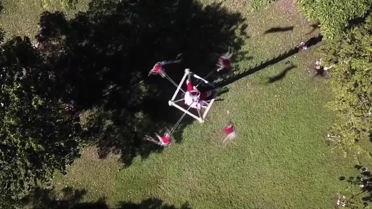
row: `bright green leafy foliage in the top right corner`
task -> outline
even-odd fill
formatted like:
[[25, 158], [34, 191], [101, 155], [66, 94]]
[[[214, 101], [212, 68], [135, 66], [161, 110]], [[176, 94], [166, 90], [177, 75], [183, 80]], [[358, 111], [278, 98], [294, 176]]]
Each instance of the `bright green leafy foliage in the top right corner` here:
[[325, 38], [339, 36], [350, 22], [364, 17], [372, 0], [296, 0], [299, 10], [312, 22], [320, 22]]

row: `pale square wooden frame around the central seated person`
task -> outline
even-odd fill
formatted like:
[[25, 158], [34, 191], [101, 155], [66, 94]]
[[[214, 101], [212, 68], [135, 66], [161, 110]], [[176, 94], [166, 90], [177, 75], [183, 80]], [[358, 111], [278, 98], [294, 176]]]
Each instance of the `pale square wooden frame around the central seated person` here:
[[[208, 114], [209, 110], [211, 109], [212, 104], [213, 104], [215, 98], [213, 98], [213, 99], [209, 102], [208, 107], [206, 107], [206, 110], [205, 110], [205, 112], [203, 113], [203, 115], [202, 115], [201, 117], [198, 117], [198, 116], [194, 115], [193, 113], [189, 112], [188, 110], [186, 110], [186, 109], [184, 109], [183, 107], [181, 107], [181, 106], [179, 106], [179, 105], [176, 104], [176, 102], [183, 101], [183, 99], [179, 99], [179, 100], [174, 101], [174, 99], [176, 99], [176, 96], [177, 96], [178, 92], [179, 92], [180, 89], [181, 89], [181, 86], [182, 86], [183, 82], [185, 81], [187, 75], [189, 75], [189, 74], [190, 74], [190, 69], [189, 69], [189, 68], [185, 69], [185, 74], [183, 75], [180, 84], [177, 86], [177, 89], [176, 89], [176, 91], [174, 92], [172, 99], [168, 101], [168, 105], [169, 105], [169, 106], [174, 106], [174, 107], [176, 107], [177, 109], [181, 110], [182, 112], [186, 113], [187, 115], [189, 115], [189, 116], [195, 118], [195, 119], [198, 120], [200, 123], [203, 123], [203, 122], [204, 122], [204, 119], [205, 119], [205, 116]], [[199, 77], [199, 76], [196, 75], [196, 74], [193, 74], [193, 73], [191, 73], [191, 74], [193, 75], [193, 77], [196, 77], [196, 78], [199, 78], [199, 79], [201, 78], [201, 77]], [[206, 84], [210, 84], [208, 81], [204, 80], [203, 78], [202, 78], [202, 80], [203, 80]], [[213, 84], [212, 84], [212, 85], [213, 85]]]

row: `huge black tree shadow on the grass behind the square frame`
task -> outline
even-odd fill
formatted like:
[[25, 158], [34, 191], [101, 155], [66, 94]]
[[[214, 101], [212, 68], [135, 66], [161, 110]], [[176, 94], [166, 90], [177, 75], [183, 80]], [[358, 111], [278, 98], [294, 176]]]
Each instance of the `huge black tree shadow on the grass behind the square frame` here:
[[[203, 7], [196, 0], [93, 0], [71, 20], [44, 12], [36, 38], [55, 73], [56, 94], [83, 110], [103, 108], [85, 137], [100, 157], [121, 153], [130, 165], [162, 149], [142, 140], [144, 134], [171, 128], [182, 115], [167, 104], [176, 87], [158, 75], [147, 77], [155, 62], [183, 53], [181, 64], [166, 66], [167, 74], [177, 84], [185, 68], [204, 76], [228, 46], [240, 50], [235, 30], [243, 21], [220, 4]], [[176, 142], [193, 121], [185, 117]]]

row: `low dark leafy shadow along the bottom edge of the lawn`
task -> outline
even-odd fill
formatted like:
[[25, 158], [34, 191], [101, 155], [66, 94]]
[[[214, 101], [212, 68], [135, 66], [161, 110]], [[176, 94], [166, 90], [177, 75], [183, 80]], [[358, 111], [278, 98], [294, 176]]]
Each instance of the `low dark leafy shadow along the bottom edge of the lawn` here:
[[62, 189], [62, 197], [57, 197], [53, 189], [37, 188], [22, 200], [22, 206], [30, 206], [32, 209], [191, 209], [185, 202], [180, 208], [174, 205], [163, 204], [158, 198], [148, 198], [140, 203], [122, 201], [116, 208], [110, 208], [106, 204], [106, 198], [101, 197], [96, 202], [81, 202], [86, 190], [66, 187]]

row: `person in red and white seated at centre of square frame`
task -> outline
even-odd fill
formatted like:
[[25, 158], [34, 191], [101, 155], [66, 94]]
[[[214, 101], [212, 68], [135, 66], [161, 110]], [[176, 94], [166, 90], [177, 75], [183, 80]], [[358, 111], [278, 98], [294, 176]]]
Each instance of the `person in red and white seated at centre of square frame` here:
[[192, 84], [190, 79], [186, 80], [187, 91], [185, 93], [185, 103], [186, 105], [200, 109], [204, 105], [204, 101], [208, 100], [211, 96], [212, 91], [200, 92]]

